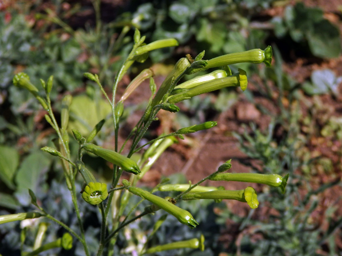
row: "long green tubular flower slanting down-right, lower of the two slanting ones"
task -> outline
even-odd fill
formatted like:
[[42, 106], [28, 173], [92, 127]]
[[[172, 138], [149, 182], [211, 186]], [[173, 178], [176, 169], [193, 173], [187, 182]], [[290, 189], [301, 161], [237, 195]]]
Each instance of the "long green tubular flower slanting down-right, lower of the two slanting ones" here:
[[177, 207], [176, 205], [170, 203], [169, 201], [167, 201], [161, 197], [158, 197], [156, 195], [153, 195], [153, 194], [149, 193], [148, 191], [145, 191], [145, 190], [138, 188], [138, 187], [130, 187], [130, 188], [128, 188], [128, 190], [132, 194], [140, 196], [141, 198], [144, 198], [144, 199], [156, 204], [158, 207], [160, 207], [164, 211], [172, 214], [173, 216], [175, 216], [178, 219], [178, 221], [180, 223], [188, 225], [190, 228], [195, 228], [198, 225], [198, 223], [195, 221], [195, 219], [191, 215], [191, 213]]

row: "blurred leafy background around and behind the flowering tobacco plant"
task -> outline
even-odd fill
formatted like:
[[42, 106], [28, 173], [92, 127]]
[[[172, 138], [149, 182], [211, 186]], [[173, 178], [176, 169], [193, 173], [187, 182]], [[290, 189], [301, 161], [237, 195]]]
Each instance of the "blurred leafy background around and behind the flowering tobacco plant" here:
[[[146, 62], [133, 67], [131, 75], [124, 77], [124, 84], [150, 66], [156, 75], [165, 75], [177, 59], [188, 53], [196, 56], [203, 49], [204, 59], [209, 59], [272, 45], [275, 61], [271, 68], [249, 63], [239, 65], [247, 71], [250, 82], [243, 96], [225, 89], [205, 99], [185, 101], [183, 111], [176, 115], [172, 126], [212, 120], [232, 106], [239, 108], [239, 104], [248, 101], [270, 121], [262, 126], [260, 120], [250, 120], [253, 122], [244, 126], [244, 120], [236, 118], [239, 128], [234, 134], [247, 156], [240, 162], [251, 171], [290, 173], [285, 195], [276, 189], [259, 187], [261, 207], [245, 214], [227, 208], [224, 202], [181, 202], [180, 207], [191, 211], [200, 223], [198, 228], [189, 230], [168, 217], [148, 245], [189, 239], [203, 233], [204, 252], [179, 250], [157, 255], [341, 255], [342, 212], [337, 203], [341, 192], [342, 121], [338, 111], [341, 105], [336, 102], [341, 99], [342, 78], [333, 68], [336, 65], [329, 66], [331, 59], [341, 63], [341, 7], [324, 11], [305, 2], [310, 3], [1, 1], [0, 213], [32, 210], [27, 193], [30, 188], [43, 208], [71, 228], [77, 226], [60, 162], [39, 150], [45, 145], [52, 146], [53, 130], [36, 100], [27, 91], [12, 85], [14, 74], [26, 72], [37, 86], [39, 79], [47, 80], [52, 74], [51, 98], [56, 113], [60, 112], [63, 95], [71, 93], [74, 100], [70, 107], [70, 125], [86, 134], [110, 110], [98, 88], [83, 79], [82, 74], [97, 73], [105, 88], [110, 88], [122, 56], [129, 53], [133, 44], [134, 28], [138, 28], [146, 35], [146, 43], [175, 38], [180, 46], [151, 52]], [[302, 76], [292, 76], [289, 71], [298, 61], [303, 67], [313, 68], [304, 67], [300, 69]], [[235, 65], [230, 68], [237, 71]], [[241, 97], [244, 98], [239, 103]], [[83, 112], [85, 106], [89, 115], [80, 118], [79, 111]], [[140, 103], [133, 100], [123, 117], [139, 108]], [[110, 127], [105, 126], [103, 131], [97, 138], [101, 143], [111, 135]], [[328, 153], [321, 150], [323, 147]], [[71, 151], [76, 149], [75, 142]], [[98, 179], [108, 179], [109, 168], [104, 161], [87, 156], [85, 161]], [[170, 182], [186, 180], [178, 174], [171, 176]], [[324, 200], [329, 203], [323, 204]], [[87, 243], [94, 252], [99, 213], [88, 204], [79, 205], [84, 214]], [[115, 253], [130, 255], [134, 248], [141, 246], [141, 239], [146, 239], [148, 234], [145, 230], [152, 229], [161, 214], [146, 216], [120, 233]], [[0, 253], [20, 255], [21, 230], [26, 232], [25, 243], [33, 243], [38, 224], [21, 225], [1, 226]], [[62, 228], [51, 224], [46, 240], [52, 241], [62, 233]], [[83, 251], [76, 244], [71, 251], [55, 253], [82, 255]]]

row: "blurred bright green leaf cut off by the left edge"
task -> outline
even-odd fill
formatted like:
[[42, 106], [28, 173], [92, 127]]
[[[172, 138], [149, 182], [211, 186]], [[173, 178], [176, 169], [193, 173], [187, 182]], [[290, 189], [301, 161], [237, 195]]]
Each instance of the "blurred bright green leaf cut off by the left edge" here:
[[0, 179], [11, 189], [15, 188], [13, 176], [19, 164], [19, 154], [13, 147], [0, 145]]

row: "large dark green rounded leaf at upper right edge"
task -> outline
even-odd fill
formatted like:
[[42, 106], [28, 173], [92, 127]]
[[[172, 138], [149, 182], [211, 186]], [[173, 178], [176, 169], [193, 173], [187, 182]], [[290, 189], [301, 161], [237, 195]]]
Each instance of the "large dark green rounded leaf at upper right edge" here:
[[341, 53], [339, 29], [328, 20], [315, 23], [307, 38], [311, 52], [317, 57], [336, 58]]

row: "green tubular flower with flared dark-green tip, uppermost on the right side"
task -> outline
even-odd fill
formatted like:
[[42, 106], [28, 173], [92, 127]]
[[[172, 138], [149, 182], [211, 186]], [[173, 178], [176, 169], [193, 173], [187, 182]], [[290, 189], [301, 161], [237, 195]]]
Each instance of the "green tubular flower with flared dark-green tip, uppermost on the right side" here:
[[225, 65], [231, 65], [235, 63], [241, 62], [250, 62], [250, 63], [265, 63], [267, 67], [271, 66], [272, 62], [272, 47], [269, 45], [266, 49], [252, 49], [245, 52], [240, 53], [230, 53], [226, 55], [222, 55], [210, 60], [207, 60], [208, 65], [205, 69], [221, 67]]

